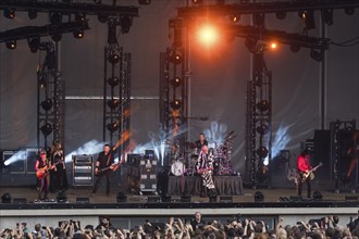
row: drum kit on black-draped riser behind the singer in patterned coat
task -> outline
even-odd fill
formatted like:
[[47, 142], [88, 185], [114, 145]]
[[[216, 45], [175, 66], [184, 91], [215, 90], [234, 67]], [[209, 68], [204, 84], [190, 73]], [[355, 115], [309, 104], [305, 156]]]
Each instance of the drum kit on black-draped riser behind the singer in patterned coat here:
[[[213, 155], [214, 175], [232, 175], [232, 136], [230, 133], [222, 142], [209, 142], [209, 153]], [[173, 176], [194, 176], [200, 149], [196, 148], [195, 142], [171, 143], [168, 153], [171, 163], [170, 175]]]

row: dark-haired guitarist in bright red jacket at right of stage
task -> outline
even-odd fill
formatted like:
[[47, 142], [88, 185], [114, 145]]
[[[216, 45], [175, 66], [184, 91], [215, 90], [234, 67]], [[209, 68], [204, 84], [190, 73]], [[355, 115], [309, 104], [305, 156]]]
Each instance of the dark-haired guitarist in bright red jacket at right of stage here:
[[[312, 169], [312, 167], [309, 165], [309, 151], [308, 149], [305, 149], [300, 155], [297, 158], [297, 167], [298, 167], [298, 174], [299, 174], [299, 180], [298, 180], [298, 196], [301, 196], [302, 190], [302, 178], [305, 174], [308, 174], [309, 171]], [[308, 198], [311, 198], [311, 178], [307, 177], [305, 179], [307, 183], [307, 196]]]

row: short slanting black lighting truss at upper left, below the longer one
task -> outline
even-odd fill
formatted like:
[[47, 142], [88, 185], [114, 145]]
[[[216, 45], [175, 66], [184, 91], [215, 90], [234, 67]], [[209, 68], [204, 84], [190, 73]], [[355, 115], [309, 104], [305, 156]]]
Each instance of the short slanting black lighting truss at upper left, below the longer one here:
[[0, 33], [0, 42], [87, 29], [89, 29], [87, 21], [69, 22], [59, 25], [47, 24], [45, 26], [24, 26]]

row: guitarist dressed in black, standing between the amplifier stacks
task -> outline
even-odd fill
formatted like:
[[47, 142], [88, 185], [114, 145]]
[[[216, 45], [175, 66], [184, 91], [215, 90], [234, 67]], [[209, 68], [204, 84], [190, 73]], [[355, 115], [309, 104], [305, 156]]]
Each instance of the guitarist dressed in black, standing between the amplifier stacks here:
[[[97, 192], [97, 188], [100, 184], [100, 181], [102, 180], [103, 177], [106, 177], [106, 183], [107, 183], [107, 187], [106, 187], [106, 194], [109, 196], [110, 194], [110, 171], [115, 171], [117, 169], [116, 166], [114, 166], [114, 156], [113, 154], [115, 153], [115, 148], [114, 147], [112, 150], [110, 148], [110, 144], [104, 144], [103, 147], [103, 151], [99, 153], [97, 161], [96, 161], [96, 168], [95, 168], [95, 174], [97, 176], [96, 181], [95, 181], [95, 186], [92, 189], [92, 193], [95, 194]], [[104, 171], [101, 172], [101, 169], [104, 168], [109, 168], [109, 171]], [[101, 173], [99, 173], [101, 172]]]

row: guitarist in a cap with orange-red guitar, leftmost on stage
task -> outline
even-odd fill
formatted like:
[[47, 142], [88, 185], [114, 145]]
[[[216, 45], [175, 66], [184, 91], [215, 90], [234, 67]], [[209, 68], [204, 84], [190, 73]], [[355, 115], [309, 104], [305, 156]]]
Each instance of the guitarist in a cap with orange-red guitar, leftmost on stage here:
[[49, 169], [52, 169], [51, 162], [47, 159], [45, 150], [40, 151], [40, 158], [35, 163], [35, 171], [38, 177], [39, 200], [47, 200], [50, 188]]

